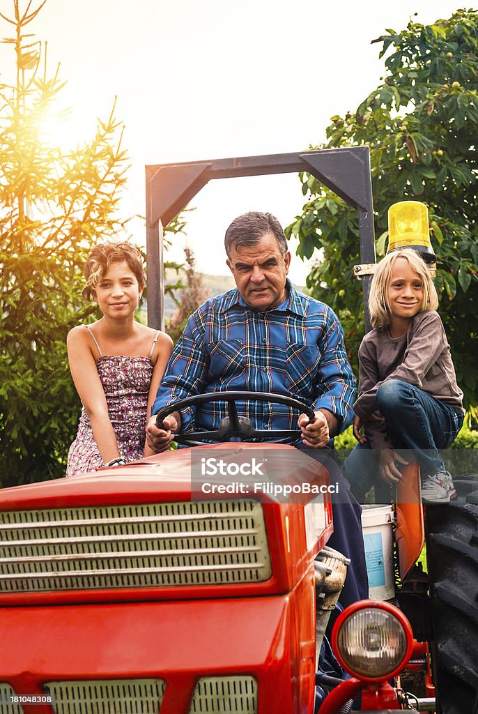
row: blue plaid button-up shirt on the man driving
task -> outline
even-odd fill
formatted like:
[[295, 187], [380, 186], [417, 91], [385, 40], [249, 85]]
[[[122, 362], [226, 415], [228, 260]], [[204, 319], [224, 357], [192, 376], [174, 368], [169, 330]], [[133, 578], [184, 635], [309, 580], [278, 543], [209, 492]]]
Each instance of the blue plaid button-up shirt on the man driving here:
[[[198, 308], [171, 355], [153, 414], [194, 394], [248, 390], [298, 398], [348, 426], [356, 388], [342, 327], [325, 303], [289, 281], [288, 290], [282, 304], [264, 312], [248, 306], [237, 288]], [[255, 428], [297, 428], [296, 409], [253, 400], [236, 406]], [[224, 416], [223, 401], [183, 410], [181, 431], [216, 429]]]

